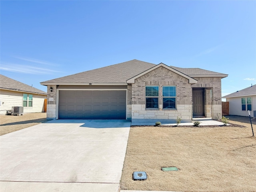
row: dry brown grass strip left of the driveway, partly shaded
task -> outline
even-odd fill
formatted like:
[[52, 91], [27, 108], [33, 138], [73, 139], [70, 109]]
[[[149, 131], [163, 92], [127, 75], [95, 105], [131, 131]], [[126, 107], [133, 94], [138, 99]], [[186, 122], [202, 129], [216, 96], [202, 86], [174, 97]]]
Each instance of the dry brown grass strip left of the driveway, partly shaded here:
[[46, 122], [46, 113], [27, 113], [21, 116], [0, 115], [0, 135]]

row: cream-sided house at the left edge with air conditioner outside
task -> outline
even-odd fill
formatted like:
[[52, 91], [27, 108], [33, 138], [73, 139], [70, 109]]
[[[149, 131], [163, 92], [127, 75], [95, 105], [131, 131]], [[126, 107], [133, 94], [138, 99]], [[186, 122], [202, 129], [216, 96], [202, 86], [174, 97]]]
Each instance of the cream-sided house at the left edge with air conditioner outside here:
[[23, 113], [44, 112], [47, 93], [0, 74], [0, 114], [12, 106], [23, 106]]

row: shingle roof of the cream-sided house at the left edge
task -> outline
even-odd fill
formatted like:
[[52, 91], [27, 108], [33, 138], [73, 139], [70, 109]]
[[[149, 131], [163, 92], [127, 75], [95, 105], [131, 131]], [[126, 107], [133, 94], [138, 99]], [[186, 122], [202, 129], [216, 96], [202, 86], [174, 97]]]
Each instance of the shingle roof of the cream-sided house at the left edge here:
[[12, 91], [18, 91], [18, 92], [31, 92], [31, 93], [47, 95], [47, 93], [42, 90], [31, 87], [27, 84], [16, 81], [14, 79], [11, 79], [1, 74], [0, 74], [0, 89], [7, 89]]

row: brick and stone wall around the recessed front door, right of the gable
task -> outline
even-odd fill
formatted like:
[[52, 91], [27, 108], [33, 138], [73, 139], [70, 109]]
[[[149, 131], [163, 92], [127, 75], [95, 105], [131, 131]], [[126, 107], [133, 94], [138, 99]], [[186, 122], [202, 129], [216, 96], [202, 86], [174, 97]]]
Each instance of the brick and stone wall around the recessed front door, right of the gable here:
[[[206, 88], [206, 117], [214, 118], [217, 113], [222, 116], [221, 77], [194, 77], [194, 79], [198, 82], [192, 84], [192, 88]], [[209, 99], [210, 90], [212, 90], [211, 100]], [[211, 110], [211, 116], [208, 110]]]

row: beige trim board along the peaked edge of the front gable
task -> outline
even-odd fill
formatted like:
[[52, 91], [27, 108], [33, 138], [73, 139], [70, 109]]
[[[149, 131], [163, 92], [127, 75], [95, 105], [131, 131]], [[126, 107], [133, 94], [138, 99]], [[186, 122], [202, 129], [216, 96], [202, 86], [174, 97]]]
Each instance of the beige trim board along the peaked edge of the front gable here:
[[197, 80], [195, 80], [195, 79], [192, 78], [191, 76], [188, 76], [188, 75], [186, 75], [186, 74], [184, 74], [184, 73], [182, 73], [182, 72], [180, 72], [180, 71], [178, 71], [178, 70], [176, 70], [176, 69], [174, 69], [174, 68], [171, 68], [171, 67], [169, 67], [169, 66], [167, 66], [167, 65], [165, 65], [165, 64], [163, 64], [163, 63], [160, 63], [160, 64], [158, 64], [158, 65], [156, 65], [156, 66], [154, 66], [154, 67], [152, 67], [152, 68], [150, 68], [150, 69], [148, 69], [148, 70], [146, 70], [146, 71], [144, 71], [144, 72], [142, 72], [142, 73], [140, 73], [140, 74], [138, 74], [138, 75], [136, 75], [136, 76], [134, 76], [134, 77], [128, 79], [126, 82], [127, 82], [127, 83], [134, 83], [134, 82], [135, 82], [135, 79], [137, 79], [137, 78], [143, 76], [144, 74], [147, 74], [147, 73], [151, 72], [152, 70], [155, 70], [156, 68], [158, 68], [158, 67], [160, 67], [160, 66], [162, 66], [162, 67], [164, 67], [164, 68], [166, 68], [166, 69], [168, 69], [168, 70], [170, 70], [170, 71], [172, 71], [172, 72], [174, 72], [174, 73], [176, 73], [176, 74], [179, 74], [180, 76], [183, 76], [184, 78], [188, 79], [188, 81], [189, 81], [190, 84], [195, 84], [195, 83], [197, 83]]

